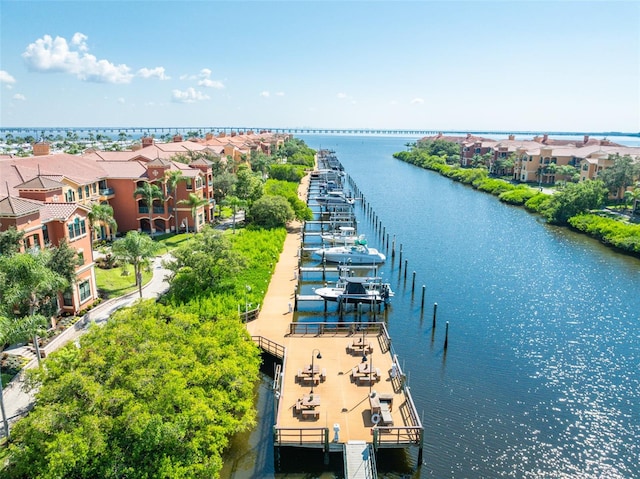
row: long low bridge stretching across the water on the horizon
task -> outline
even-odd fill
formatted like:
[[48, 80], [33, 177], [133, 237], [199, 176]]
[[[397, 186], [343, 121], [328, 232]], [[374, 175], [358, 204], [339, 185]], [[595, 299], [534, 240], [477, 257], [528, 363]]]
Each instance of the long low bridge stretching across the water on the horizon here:
[[472, 135], [485, 135], [485, 136], [536, 136], [548, 134], [550, 136], [602, 136], [602, 137], [614, 137], [614, 136], [631, 136], [640, 137], [640, 133], [628, 133], [618, 131], [507, 131], [507, 130], [436, 130], [436, 129], [388, 129], [388, 128], [309, 128], [309, 127], [267, 127], [267, 126], [164, 126], [164, 127], [150, 127], [150, 126], [86, 126], [86, 127], [65, 127], [65, 126], [32, 126], [32, 127], [0, 127], [0, 135], [6, 136], [11, 134], [13, 136], [33, 136], [39, 137], [43, 134], [45, 136], [55, 133], [60, 134], [67, 132], [74, 132], [78, 135], [83, 134], [108, 134], [109, 136], [118, 136], [124, 134], [128, 136], [163, 136], [181, 134], [187, 135], [190, 133], [196, 133], [198, 136], [204, 136], [206, 133], [246, 133], [248, 131], [270, 131], [272, 133], [288, 133], [293, 135], [363, 135], [363, 136], [409, 136], [409, 137], [422, 137], [436, 135], [442, 133], [443, 135], [464, 135], [470, 133]]

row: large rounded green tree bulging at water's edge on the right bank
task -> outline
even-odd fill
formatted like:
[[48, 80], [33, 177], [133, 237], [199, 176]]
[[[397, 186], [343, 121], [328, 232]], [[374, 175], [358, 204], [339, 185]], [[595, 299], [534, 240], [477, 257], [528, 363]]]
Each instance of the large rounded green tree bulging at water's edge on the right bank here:
[[550, 223], [565, 225], [572, 216], [600, 208], [606, 197], [607, 188], [600, 180], [570, 183], [551, 196], [544, 214]]

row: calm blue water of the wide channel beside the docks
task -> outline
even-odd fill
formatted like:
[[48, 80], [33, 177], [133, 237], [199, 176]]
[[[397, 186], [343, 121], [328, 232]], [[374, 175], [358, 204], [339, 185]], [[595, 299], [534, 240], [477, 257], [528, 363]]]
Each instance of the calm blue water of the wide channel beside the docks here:
[[[336, 151], [408, 261], [406, 281], [397, 258], [381, 271], [426, 431], [412, 477], [640, 477], [640, 261], [391, 157], [415, 138], [302, 138]], [[358, 232], [383, 249], [357, 211]], [[280, 477], [268, 449], [228, 477]]]

